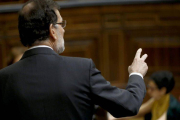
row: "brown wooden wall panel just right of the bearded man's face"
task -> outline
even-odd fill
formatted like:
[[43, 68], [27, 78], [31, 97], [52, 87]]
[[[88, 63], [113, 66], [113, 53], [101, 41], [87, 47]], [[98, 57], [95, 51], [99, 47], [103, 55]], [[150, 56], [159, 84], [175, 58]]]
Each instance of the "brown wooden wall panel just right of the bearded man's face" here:
[[91, 58], [101, 70], [101, 42], [99, 31], [76, 31], [65, 33], [65, 51], [62, 55]]

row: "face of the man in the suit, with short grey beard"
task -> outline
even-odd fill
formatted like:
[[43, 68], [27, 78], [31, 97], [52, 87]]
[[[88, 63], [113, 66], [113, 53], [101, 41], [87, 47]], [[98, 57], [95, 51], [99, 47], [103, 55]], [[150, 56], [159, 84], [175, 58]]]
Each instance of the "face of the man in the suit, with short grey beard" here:
[[[57, 20], [57, 23], [61, 23], [63, 21], [60, 13], [58, 10], [55, 11], [56, 12], [56, 15], [58, 17], [58, 20]], [[65, 46], [64, 46], [64, 32], [65, 30], [62, 28], [61, 25], [59, 24], [56, 24], [56, 33], [57, 33], [57, 40], [55, 42], [55, 51], [60, 54], [64, 51], [65, 49]]]

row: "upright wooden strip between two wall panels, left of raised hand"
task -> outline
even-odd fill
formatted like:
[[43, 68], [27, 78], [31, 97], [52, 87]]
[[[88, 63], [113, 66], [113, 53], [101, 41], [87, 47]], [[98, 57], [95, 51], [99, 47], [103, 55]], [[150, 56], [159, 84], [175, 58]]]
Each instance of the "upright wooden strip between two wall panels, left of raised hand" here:
[[120, 86], [125, 80], [124, 71], [124, 38], [122, 31], [105, 31], [103, 41], [104, 72], [112, 85]]

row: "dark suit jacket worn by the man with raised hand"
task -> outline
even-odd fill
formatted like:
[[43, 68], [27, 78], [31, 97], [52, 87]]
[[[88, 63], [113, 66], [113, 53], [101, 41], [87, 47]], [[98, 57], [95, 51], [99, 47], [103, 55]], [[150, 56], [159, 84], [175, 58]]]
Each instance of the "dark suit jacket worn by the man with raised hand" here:
[[135, 115], [145, 96], [143, 79], [110, 85], [91, 59], [63, 57], [50, 48], [28, 50], [0, 70], [0, 117], [6, 120], [91, 120], [94, 104], [115, 117]]

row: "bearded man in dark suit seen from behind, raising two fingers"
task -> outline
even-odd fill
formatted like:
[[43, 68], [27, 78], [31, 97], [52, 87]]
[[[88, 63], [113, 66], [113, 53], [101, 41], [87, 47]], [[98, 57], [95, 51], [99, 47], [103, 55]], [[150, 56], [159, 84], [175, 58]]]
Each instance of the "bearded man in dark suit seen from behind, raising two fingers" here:
[[63, 57], [64, 21], [51, 0], [28, 1], [19, 12], [21, 60], [0, 70], [0, 116], [6, 120], [91, 120], [94, 105], [114, 117], [136, 115], [146, 88], [141, 49], [126, 89], [111, 86], [91, 59]]

